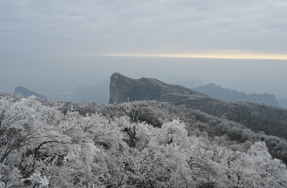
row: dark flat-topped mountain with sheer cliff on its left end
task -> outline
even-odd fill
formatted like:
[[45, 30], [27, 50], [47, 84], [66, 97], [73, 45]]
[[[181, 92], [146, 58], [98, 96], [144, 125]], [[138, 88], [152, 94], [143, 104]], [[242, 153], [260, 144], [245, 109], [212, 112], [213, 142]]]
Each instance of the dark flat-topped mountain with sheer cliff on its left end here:
[[109, 103], [127, 102], [128, 98], [129, 101], [160, 101], [161, 96], [168, 93], [208, 96], [180, 85], [166, 84], [155, 78], [132, 79], [114, 73], [111, 76]]

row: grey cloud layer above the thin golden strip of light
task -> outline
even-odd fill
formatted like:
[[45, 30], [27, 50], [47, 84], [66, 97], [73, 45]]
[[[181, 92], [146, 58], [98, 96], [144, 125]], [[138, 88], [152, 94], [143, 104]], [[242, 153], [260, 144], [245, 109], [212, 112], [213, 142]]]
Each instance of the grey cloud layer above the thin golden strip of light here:
[[2, 1], [0, 50], [286, 52], [286, 1]]

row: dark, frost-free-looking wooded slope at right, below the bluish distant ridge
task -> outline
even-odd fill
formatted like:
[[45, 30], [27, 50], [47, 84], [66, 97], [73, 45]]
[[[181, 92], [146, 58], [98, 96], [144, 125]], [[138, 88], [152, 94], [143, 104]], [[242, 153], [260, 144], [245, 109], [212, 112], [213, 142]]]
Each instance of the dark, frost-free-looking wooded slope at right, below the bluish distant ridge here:
[[216, 98], [202, 97], [202, 100], [186, 100], [173, 103], [198, 109], [216, 117], [242, 123], [255, 132], [287, 138], [287, 109], [250, 101], [227, 102]]

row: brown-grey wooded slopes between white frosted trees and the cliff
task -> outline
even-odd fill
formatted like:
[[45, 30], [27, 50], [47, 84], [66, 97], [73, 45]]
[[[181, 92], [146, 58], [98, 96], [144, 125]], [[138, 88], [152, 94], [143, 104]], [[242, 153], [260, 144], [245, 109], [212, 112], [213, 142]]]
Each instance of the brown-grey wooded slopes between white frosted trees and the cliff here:
[[[169, 94], [167, 94], [169, 96]], [[173, 96], [173, 94], [170, 94]], [[176, 94], [180, 95], [180, 94]], [[5, 94], [0, 92], [0, 97], [12, 98], [14, 101], [20, 100], [23, 98], [21, 95], [12, 95]], [[182, 95], [180, 95], [182, 97]], [[194, 96], [196, 97], [196, 96]], [[175, 97], [177, 98], [177, 97]], [[201, 99], [201, 100], [199, 100]], [[40, 98], [37, 99], [41, 101], [42, 105], [51, 105], [54, 104], [55, 101], [52, 100], [42, 100]], [[124, 104], [107, 104], [107, 105], [99, 105], [96, 101], [83, 101], [82, 103], [75, 102], [67, 102], [67, 101], [56, 101], [58, 103], [64, 104], [60, 110], [63, 110], [65, 113], [67, 109], [73, 106], [76, 111], [78, 111], [81, 115], [85, 115], [86, 113], [101, 113], [104, 116], [110, 114], [119, 113], [121, 114], [122, 110], [124, 110]], [[183, 105], [184, 104], [184, 105]], [[205, 104], [205, 106], [203, 105]], [[226, 106], [224, 106], [225, 104]], [[185, 106], [186, 105], [186, 106]], [[188, 105], [193, 108], [189, 108]], [[228, 107], [230, 105], [230, 107]], [[209, 97], [197, 97], [194, 99], [184, 99], [184, 101], [176, 102], [176, 103], [166, 103], [159, 101], [134, 101], [131, 103], [131, 109], [133, 112], [140, 113], [138, 114], [138, 119], [141, 121], [145, 121], [148, 124], [151, 124], [156, 127], [161, 127], [161, 125], [165, 121], [171, 121], [173, 119], [179, 118], [187, 125], [187, 130], [189, 134], [191, 131], [197, 132], [201, 134], [201, 132], [205, 132], [209, 137], [213, 137], [214, 135], [227, 135], [227, 138], [235, 143], [242, 144], [246, 141], [256, 142], [256, 141], [265, 141], [269, 152], [273, 157], [278, 159], [282, 159], [285, 163], [287, 163], [287, 142], [280, 134], [284, 134], [286, 128], [284, 125], [287, 124], [286, 118], [286, 109], [280, 107], [272, 107], [266, 106], [263, 103], [252, 103], [252, 102], [226, 102], [221, 101], [215, 98]], [[209, 108], [209, 113], [207, 113], [207, 107]], [[205, 107], [205, 108], [204, 108]], [[212, 108], [214, 107], [214, 108]], [[196, 109], [198, 108], [198, 109]], [[231, 110], [230, 110], [231, 108]], [[276, 132], [278, 128], [276, 127], [268, 132], [264, 132], [263, 123], [256, 123], [254, 120], [254, 124], [258, 126], [256, 131], [249, 129], [249, 124], [247, 124], [247, 120], [240, 120], [240, 116], [242, 111], [248, 114], [248, 110], [252, 111], [252, 109], [257, 109], [257, 119], [260, 122], [269, 120], [272, 121], [272, 118], [280, 119], [279, 123], [281, 123], [282, 131]], [[261, 108], [265, 109], [262, 110]], [[205, 110], [205, 111], [204, 111]], [[211, 110], [215, 110], [216, 113], [213, 115]], [[227, 113], [229, 112], [230, 113]], [[231, 116], [231, 114], [233, 115]], [[229, 115], [228, 115], [229, 114]], [[250, 113], [252, 114], [252, 113]], [[271, 119], [267, 118], [267, 115], [270, 115]], [[273, 116], [271, 116], [273, 114]], [[248, 120], [252, 120], [254, 113], [251, 116], [243, 116], [245, 118], [249, 117]], [[231, 117], [236, 117], [234, 120]], [[266, 120], [264, 120], [264, 117]], [[235, 121], [236, 120], [236, 121]], [[276, 125], [275, 122], [274, 124]], [[260, 129], [262, 126], [262, 130]], [[266, 125], [265, 125], [266, 126]], [[280, 124], [278, 125], [280, 126]], [[193, 133], [192, 133], [193, 134]], [[275, 136], [275, 135], [279, 135]]]

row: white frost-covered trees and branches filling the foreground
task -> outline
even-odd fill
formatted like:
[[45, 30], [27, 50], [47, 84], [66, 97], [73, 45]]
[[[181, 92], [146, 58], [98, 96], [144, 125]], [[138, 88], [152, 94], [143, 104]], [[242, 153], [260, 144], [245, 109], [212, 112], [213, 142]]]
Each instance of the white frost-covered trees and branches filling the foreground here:
[[62, 107], [0, 99], [0, 188], [287, 187], [265, 142], [230, 150], [226, 137], [187, 136], [179, 119], [139, 122], [128, 103], [114, 116]]

